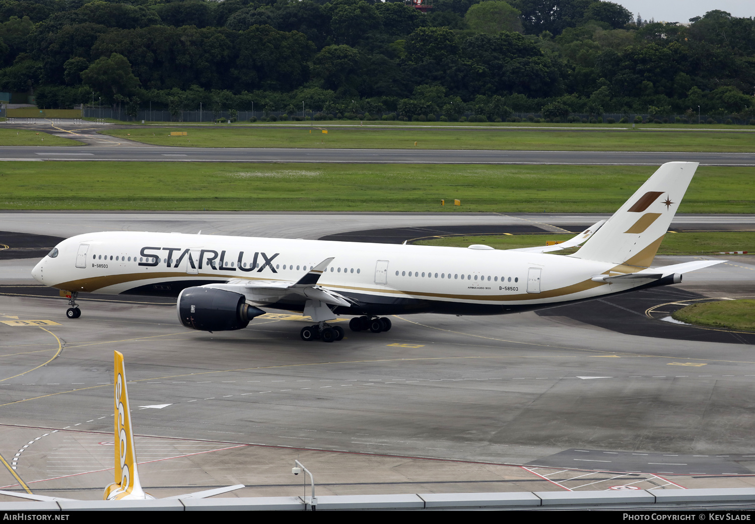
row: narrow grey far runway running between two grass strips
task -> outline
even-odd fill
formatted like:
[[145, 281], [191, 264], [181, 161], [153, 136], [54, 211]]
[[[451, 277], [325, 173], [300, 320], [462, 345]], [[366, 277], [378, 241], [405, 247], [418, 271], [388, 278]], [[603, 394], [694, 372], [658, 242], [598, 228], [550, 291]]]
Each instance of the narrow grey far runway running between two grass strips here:
[[[81, 137], [75, 137], [81, 138]], [[347, 164], [559, 164], [755, 165], [755, 153], [652, 153], [615, 151], [484, 151], [443, 149], [256, 149], [162, 147], [114, 144], [112, 137], [91, 137], [98, 146], [2, 146], [0, 159], [79, 162], [322, 162]], [[103, 140], [104, 139], [104, 140]]]

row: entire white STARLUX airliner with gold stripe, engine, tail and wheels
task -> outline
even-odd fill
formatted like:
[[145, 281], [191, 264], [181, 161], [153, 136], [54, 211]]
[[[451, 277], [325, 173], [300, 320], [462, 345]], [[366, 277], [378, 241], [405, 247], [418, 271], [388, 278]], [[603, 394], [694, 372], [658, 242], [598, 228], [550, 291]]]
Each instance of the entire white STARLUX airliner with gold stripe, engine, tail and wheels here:
[[[675, 284], [723, 260], [651, 268], [695, 174], [670, 162], [608, 220], [558, 245], [497, 250], [180, 233], [89, 233], [60, 242], [32, 271], [69, 297], [80, 292], [177, 297], [187, 328], [245, 328], [262, 307], [303, 312], [305, 341], [341, 340], [328, 321], [387, 331], [399, 313], [501, 315]], [[574, 254], [551, 254], [581, 245]]]

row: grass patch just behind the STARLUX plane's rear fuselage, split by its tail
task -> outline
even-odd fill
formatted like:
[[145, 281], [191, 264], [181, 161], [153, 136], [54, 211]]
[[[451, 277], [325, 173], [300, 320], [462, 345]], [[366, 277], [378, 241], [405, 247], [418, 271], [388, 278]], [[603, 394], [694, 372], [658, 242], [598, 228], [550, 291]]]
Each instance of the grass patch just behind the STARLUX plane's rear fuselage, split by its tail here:
[[[419, 245], [445, 245], [466, 248], [471, 244], [485, 244], [496, 249], [529, 248], [545, 245], [547, 240], [568, 240], [574, 235], [481, 235], [446, 236], [411, 242]], [[576, 249], [562, 251], [571, 254]], [[755, 251], [755, 231], [667, 233], [658, 254], [713, 254], [720, 251]], [[558, 252], [556, 252], [558, 253]]]

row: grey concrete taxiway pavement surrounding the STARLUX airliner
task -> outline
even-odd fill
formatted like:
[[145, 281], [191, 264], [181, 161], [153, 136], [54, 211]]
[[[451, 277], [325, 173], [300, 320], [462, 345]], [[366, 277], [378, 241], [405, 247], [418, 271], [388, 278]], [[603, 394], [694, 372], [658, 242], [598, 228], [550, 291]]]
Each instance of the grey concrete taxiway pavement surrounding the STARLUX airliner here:
[[[163, 230], [320, 238], [378, 227], [590, 225], [589, 214], [4, 213], [7, 231]], [[679, 215], [673, 227], [751, 226]], [[539, 224], [539, 225], [538, 225]], [[409, 231], [408, 233], [412, 233]], [[389, 235], [390, 236], [390, 235]], [[694, 257], [665, 257], [673, 264]], [[140, 476], [158, 496], [751, 485], [750, 334], [673, 325], [700, 297], [755, 296], [751, 257], [681, 285], [510, 316], [397, 316], [393, 329], [305, 343], [271, 310], [242, 331], [181, 327], [159, 299], [87, 296], [82, 318], [0, 260], [0, 455], [35, 491], [98, 498], [112, 475], [112, 350], [125, 354]], [[17, 268], [12, 273], [8, 268]], [[26, 286], [26, 287], [24, 287]], [[590, 309], [592, 308], [592, 309]], [[40, 325], [29, 320], [48, 321]], [[26, 323], [24, 323], [26, 322]], [[344, 322], [344, 321], [342, 321]], [[12, 485], [7, 471], [0, 484]], [[322, 483], [322, 485], [321, 485]], [[18, 489], [18, 488], [17, 488]], [[71, 492], [70, 490], [74, 490]]]

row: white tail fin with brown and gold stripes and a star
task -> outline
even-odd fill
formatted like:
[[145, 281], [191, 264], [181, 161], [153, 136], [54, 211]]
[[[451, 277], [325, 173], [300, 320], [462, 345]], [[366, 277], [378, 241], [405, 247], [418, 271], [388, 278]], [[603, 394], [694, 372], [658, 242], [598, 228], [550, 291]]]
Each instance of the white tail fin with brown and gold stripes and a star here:
[[698, 162], [661, 165], [573, 257], [650, 267]]

